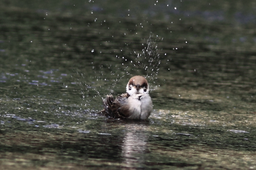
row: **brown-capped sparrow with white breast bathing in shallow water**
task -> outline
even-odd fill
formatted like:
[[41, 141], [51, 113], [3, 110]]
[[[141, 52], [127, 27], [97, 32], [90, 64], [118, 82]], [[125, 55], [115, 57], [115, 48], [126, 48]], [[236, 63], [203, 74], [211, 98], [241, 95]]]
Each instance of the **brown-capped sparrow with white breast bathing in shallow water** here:
[[147, 120], [153, 109], [147, 80], [142, 76], [132, 77], [126, 85], [126, 93], [115, 99], [107, 95], [104, 109], [98, 113], [120, 119]]

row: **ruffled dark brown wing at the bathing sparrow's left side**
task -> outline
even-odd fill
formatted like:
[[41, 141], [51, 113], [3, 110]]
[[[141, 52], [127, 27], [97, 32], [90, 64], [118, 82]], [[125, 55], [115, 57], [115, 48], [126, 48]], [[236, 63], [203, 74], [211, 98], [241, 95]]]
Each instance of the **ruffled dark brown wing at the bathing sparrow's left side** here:
[[[129, 94], [123, 93], [113, 98], [112, 95], [107, 95], [106, 99], [103, 100], [104, 110], [106, 115], [113, 118], [125, 118], [129, 116], [129, 107], [126, 104]], [[122, 106], [122, 107], [121, 107]]]

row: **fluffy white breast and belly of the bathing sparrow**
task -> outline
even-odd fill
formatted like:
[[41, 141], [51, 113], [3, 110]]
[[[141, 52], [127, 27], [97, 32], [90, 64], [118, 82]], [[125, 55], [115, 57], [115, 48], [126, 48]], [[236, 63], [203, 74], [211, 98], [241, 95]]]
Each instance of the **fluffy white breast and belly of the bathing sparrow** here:
[[128, 98], [128, 104], [130, 107], [131, 116], [129, 119], [141, 119], [146, 120], [152, 109], [152, 101], [149, 94], [134, 94]]

